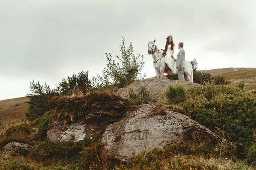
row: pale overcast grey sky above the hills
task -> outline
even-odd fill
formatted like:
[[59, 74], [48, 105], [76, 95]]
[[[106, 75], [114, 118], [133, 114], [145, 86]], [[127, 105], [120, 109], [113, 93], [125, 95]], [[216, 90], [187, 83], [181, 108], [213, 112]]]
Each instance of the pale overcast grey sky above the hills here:
[[154, 77], [147, 43], [174, 56], [184, 43], [198, 70], [256, 67], [255, 0], [2, 0], [0, 1], [0, 100], [26, 96], [29, 82], [55, 88], [88, 71], [102, 75], [105, 53], [120, 55], [122, 36], [144, 56], [142, 73]]

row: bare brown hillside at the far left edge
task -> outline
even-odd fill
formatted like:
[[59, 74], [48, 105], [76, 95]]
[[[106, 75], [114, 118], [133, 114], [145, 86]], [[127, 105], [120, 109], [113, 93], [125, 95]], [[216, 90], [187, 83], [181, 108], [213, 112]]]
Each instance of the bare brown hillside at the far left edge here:
[[28, 105], [24, 102], [28, 101], [27, 97], [19, 97], [15, 99], [6, 99], [0, 101], [0, 118], [17, 119], [24, 118]]

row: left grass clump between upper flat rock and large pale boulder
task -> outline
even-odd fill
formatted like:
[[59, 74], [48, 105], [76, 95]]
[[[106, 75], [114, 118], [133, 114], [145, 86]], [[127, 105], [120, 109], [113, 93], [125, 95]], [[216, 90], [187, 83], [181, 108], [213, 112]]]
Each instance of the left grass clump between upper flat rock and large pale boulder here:
[[140, 86], [140, 88], [138, 88], [138, 91], [134, 91], [134, 89], [129, 88], [128, 100], [131, 106], [154, 103], [153, 97], [144, 86]]

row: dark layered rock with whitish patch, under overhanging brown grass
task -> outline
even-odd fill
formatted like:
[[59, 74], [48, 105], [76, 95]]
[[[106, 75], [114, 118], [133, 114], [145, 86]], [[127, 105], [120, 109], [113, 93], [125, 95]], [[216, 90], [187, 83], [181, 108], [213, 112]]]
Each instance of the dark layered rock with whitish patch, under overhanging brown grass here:
[[65, 142], [99, 138], [108, 125], [119, 121], [127, 110], [124, 101], [95, 102], [83, 120], [65, 124], [52, 120], [48, 125], [47, 138], [52, 142]]

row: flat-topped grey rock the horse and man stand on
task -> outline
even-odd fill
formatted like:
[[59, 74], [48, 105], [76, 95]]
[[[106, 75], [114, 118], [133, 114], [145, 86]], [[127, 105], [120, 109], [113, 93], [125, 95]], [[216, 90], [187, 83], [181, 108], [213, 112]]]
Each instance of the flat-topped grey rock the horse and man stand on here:
[[166, 89], [168, 88], [168, 86], [170, 84], [175, 85], [178, 82], [182, 83], [185, 86], [185, 88], [190, 88], [192, 86], [201, 85], [201, 84], [192, 83], [192, 82], [188, 82], [188, 81], [149, 78], [149, 79], [142, 79], [137, 82], [134, 82], [130, 85], [127, 85], [125, 88], [120, 88], [120, 89], [118, 89], [116, 94], [121, 97], [127, 98], [129, 88], [133, 88], [135, 91], [137, 91], [138, 88], [140, 88], [141, 86], [144, 86], [151, 93], [151, 95], [154, 97], [154, 99], [157, 100], [161, 96], [161, 94], [164, 91], [166, 91]]

